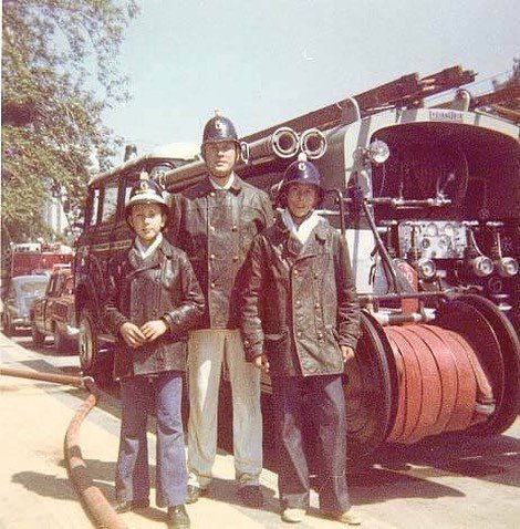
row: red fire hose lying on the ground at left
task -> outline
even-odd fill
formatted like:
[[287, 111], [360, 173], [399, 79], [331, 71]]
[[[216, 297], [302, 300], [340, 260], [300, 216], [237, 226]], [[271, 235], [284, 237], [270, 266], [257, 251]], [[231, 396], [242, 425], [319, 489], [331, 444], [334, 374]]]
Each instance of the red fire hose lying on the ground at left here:
[[96, 527], [102, 529], [126, 529], [127, 526], [123, 523], [121, 517], [117, 516], [117, 512], [110, 505], [100, 488], [94, 485], [81, 453], [80, 427], [89, 413], [95, 407], [101, 395], [94, 378], [90, 376], [39, 373], [35, 371], [18, 370], [6, 366], [0, 366], [0, 375], [51, 382], [54, 384], [66, 384], [74, 387], [85, 388], [90, 392], [89, 396], [72, 418], [65, 434], [63, 450], [69, 477], [83, 505], [95, 521]]

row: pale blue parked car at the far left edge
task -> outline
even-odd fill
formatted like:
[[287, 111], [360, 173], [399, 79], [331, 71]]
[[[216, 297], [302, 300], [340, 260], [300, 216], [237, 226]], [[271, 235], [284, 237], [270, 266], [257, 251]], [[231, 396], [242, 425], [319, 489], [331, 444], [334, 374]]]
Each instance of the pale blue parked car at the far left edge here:
[[6, 335], [11, 336], [19, 328], [30, 328], [30, 310], [34, 300], [45, 292], [46, 276], [17, 276], [11, 278], [7, 289], [2, 325]]

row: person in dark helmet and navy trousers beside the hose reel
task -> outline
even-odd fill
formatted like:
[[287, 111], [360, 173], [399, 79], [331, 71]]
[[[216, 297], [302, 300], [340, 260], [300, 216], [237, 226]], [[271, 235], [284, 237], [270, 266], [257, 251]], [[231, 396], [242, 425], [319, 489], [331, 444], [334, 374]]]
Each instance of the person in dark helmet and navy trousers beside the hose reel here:
[[319, 432], [320, 509], [357, 525], [349, 510], [342, 374], [354, 357], [360, 309], [346, 240], [315, 211], [322, 199], [318, 168], [292, 163], [279, 191], [284, 209], [251, 246], [241, 329], [248, 360], [271, 375], [282, 519], [303, 521], [309, 509], [309, 417]]

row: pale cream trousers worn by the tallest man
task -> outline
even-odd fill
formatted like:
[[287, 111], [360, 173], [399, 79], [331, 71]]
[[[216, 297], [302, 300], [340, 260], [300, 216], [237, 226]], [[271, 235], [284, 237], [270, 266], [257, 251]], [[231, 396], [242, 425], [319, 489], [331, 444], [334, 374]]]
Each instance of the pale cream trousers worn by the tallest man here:
[[258, 485], [262, 470], [260, 371], [246, 362], [238, 330], [194, 331], [188, 342], [189, 484], [206, 488], [217, 455], [220, 374], [226, 362], [232, 392], [235, 474], [239, 485]]

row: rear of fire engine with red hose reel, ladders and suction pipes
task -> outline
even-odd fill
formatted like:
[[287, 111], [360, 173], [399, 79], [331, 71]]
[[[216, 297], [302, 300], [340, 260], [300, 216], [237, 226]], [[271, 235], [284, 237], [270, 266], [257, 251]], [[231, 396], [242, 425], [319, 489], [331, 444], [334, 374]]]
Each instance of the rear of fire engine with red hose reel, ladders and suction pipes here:
[[[273, 197], [300, 153], [314, 160], [321, 214], [349, 240], [362, 336], [344, 388], [358, 453], [498, 434], [520, 412], [520, 116], [501, 104], [520, 91], [474, 97], [475, 77], [405, 75], [243, 138], [237, 173]], [[205, 175], [196, 160], [160, 181], [178, 193]]]

